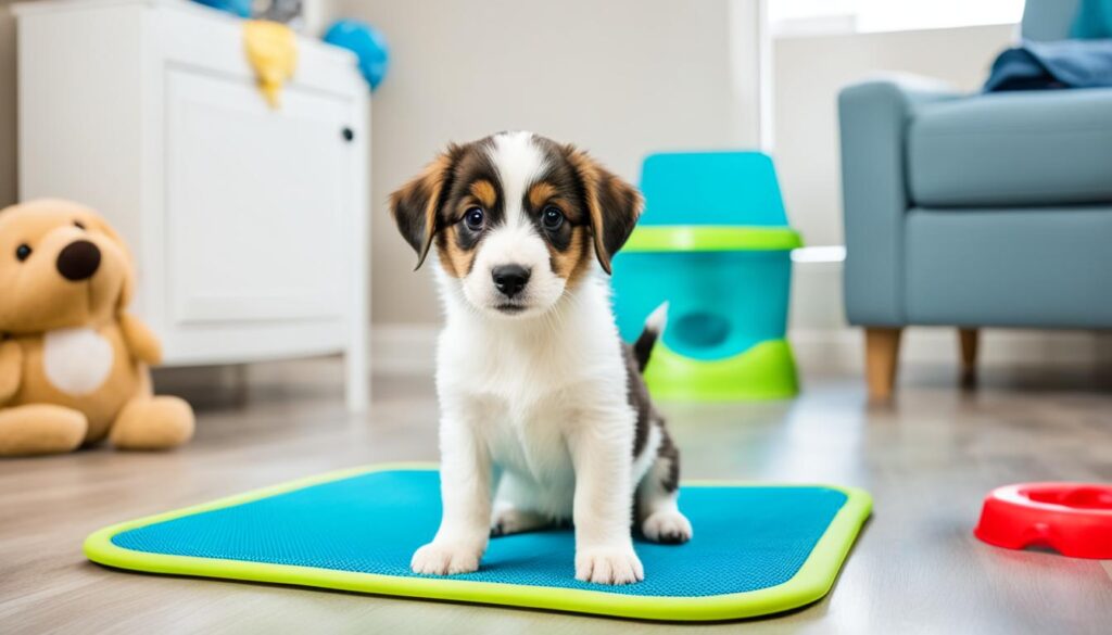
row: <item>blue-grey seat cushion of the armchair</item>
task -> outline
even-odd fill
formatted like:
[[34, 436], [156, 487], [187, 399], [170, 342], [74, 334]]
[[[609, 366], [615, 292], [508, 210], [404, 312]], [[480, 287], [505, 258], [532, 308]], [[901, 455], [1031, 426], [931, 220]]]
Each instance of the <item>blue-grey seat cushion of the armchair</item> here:
[[907, 178], [913, 204], [932, 208], [1112, 201], [1112, 89], [925, 105]]

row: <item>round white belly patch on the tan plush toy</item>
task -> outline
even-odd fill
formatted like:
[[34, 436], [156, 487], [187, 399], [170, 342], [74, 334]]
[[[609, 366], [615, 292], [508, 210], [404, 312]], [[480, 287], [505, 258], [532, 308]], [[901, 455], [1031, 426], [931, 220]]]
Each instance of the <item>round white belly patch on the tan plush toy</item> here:
[[113, 357], [111, 343], [91, 328], [60, 328], [42, 338], [47, 380], [67, 395], [88, 395], [100, 388]]

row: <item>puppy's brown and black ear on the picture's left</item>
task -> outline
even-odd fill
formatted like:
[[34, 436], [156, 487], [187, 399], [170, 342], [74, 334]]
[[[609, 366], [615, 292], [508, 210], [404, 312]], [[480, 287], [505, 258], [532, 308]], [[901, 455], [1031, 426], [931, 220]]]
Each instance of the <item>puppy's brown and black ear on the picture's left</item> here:
[[459, 152], [459, 146], [449, 145], [420, 175], [390, 195], [394, 222], [398, 225], [401, 237], [417, 252], [414, 270], [420, 269], [433, 246], [433, 237], [438, 229], [440, 197], [450, 187], [451, 171]]

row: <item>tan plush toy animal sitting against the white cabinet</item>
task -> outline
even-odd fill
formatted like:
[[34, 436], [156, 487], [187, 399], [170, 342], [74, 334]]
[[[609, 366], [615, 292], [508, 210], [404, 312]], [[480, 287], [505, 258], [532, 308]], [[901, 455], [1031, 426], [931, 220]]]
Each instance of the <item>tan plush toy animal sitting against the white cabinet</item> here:
[[127, 248], [91, 209], [0, 210], [0, 456], [189, 440], [189, 405], [152, 395], [161, 348], [126, 310], [133, 289]]

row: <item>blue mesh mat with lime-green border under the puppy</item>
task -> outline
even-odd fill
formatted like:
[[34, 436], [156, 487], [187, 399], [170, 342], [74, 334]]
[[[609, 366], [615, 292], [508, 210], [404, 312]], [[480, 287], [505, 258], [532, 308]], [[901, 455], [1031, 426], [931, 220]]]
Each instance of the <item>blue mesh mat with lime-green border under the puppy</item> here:
[[685, 484], [695, 537], [637, 536], [645, 581], [575, 579], [572, 529], [493, 538], [478, 572], [409, 570], [440, 517], [438, 473], [347, 470], [101, 529], [90, 559], [120, 568], [652, 619], [727, 619], [823, 597], [867, 518], [864, 492]]

